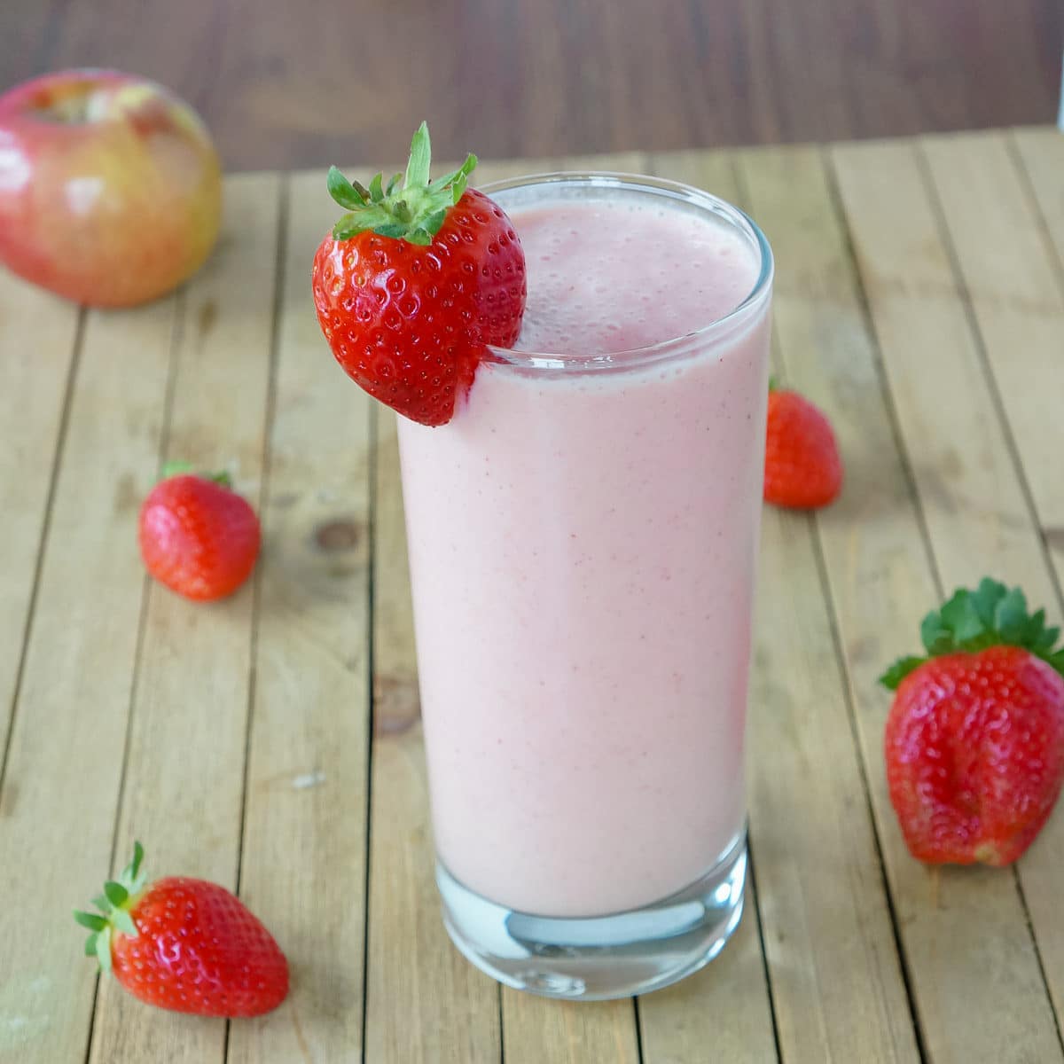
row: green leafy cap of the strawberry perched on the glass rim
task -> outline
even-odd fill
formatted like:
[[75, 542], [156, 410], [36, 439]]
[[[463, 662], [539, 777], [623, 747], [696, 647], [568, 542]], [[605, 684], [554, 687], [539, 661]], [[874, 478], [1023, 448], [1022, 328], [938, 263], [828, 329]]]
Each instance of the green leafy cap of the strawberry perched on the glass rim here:
[[[329, 168], [329, 195], [348, 213], [333, 226], [333, 238], [347, 240], [359, 233], [373, 232], [409, 244], [427, 246], [439, 232], [447, 212], [462, 198], [476, 155], [450, 173], [429, 180], [432, 148], [429, 127], [421, 122], [410, 145], [406, 173], [397, 173], [387, 186], [378, 173], [369, 187], [348, 181], [335, 167]], [[401, 182], [401, 183], [400, 183]]]

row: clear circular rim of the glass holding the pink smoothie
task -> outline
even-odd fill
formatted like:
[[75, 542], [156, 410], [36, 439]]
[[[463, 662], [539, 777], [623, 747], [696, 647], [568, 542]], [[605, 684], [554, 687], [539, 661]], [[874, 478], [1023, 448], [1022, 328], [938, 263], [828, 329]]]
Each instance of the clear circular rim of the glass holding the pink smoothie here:
[[[533, 185], [585, 184], [601, 188], [628, 188], [666, 198], [681, 200], [718, 217], [724, 217], [735, 229], [746, 235], [757, 249], [758, 277], [747, 296], [726, 314], [699, 326], [689, 332], [667, 339], [656, 340], [642, 347], [621, 351], [597, 352], [586, 355], [562, 354], [549, 351], [527, 351], [520, 348], [488, 346], [493, 362], [514, 368], [564, 370], [586, 372], [588, 370], [634, 369], [648, 363], [658, 362], [677, 351], [688, 351], [692, 344], [710, 340], [726, 333], [746, 317], [751, 317], [754, 309], [760, 309], [771, 290], [775, 260], [768, 239], [758, 223], [743, 210], [712, 193], [681, 181], [670, 181], [644, 173], [625, 173], [613, 170], [553, 170], [529, 173], [516, 178], [505, 178], [481, 185], [485, 196], [525, 188]], [[500, 204], [503, 205], [503, 204]]]

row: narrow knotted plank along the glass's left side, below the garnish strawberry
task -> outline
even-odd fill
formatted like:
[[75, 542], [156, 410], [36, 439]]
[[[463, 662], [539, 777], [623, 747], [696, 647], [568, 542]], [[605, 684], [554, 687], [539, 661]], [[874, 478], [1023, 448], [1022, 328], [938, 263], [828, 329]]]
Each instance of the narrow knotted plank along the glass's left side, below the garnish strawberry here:
[[498, 1064], [498, 985], [454, 949], [439, 913], [395, 415], [376, 413], [366, 1060]]

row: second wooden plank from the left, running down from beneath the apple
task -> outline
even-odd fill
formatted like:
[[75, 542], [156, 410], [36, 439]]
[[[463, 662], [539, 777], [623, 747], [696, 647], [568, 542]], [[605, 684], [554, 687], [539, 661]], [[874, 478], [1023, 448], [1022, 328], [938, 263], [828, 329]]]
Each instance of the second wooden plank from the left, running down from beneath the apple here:
[[[145, 585], [136, 518], [159, 464], [173, 317], [167, 299], [85, 323], [0, 791], [0, 887], [32, 899], [4, 947], [3, 1064], [85, 1055], [96, 975], [68, 914], [112, 861]], [[43, 372], [56, 358], [69, 354], [44, 354]]]

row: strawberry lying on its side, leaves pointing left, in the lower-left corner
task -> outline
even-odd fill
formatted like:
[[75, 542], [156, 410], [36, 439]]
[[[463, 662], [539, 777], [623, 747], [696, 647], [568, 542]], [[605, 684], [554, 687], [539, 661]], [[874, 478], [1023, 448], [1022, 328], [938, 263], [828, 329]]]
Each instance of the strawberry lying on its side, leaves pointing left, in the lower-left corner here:
[[94, 899], [102, 915], [74, 912], [92, 932], [85, 953], [134, 997], [200, 1016], [261, 1016], [288, 994], [288, 962], [238, 898], [201, 879], [145, 884], [144, 847]]

